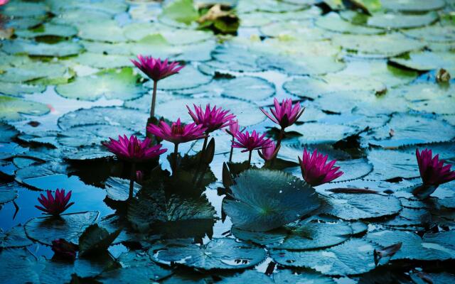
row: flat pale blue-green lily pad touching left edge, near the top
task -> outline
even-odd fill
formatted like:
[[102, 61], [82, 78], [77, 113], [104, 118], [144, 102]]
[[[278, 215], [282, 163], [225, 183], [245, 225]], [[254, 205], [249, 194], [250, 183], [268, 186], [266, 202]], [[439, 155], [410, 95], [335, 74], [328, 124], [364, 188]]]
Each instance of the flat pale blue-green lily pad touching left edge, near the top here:
[[37, 43], [32, 40], [5, 40], [2, 50], [10, 54], [26, 53], [37, 56], [65, 57], [77, 55], [82, 51], [82, 45], [73, 41], [60, 41], [59, 43]]

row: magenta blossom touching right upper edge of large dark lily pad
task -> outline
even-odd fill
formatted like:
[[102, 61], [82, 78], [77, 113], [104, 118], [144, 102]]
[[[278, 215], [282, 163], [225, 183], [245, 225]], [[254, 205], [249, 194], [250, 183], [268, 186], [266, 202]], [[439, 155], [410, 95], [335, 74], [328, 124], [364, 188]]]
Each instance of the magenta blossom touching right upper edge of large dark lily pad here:
[[335, 167], [336, 160], [327, 162], [328, 155], [323, 155], [314, 150], [313, 154], [304, 149], [304, 155], [300, 159], [299, 163], [301, 168], [301, 175], [306, 182], [312, 186], [322, 185], [326, 182], [331, 182], [336, 178], [343, 175], [343, 172], [338, 170], [340, 167]]

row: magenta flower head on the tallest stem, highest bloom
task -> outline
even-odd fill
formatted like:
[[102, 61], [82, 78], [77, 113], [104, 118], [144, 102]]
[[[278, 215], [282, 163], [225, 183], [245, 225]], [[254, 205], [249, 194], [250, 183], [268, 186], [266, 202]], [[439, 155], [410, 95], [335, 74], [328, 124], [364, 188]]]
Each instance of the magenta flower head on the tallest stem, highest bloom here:
[[178, 65], [178, 62], [168, 62], [167, 59], [161, 61], [151, 56], [137, 55], [137, 59], [139, 61], [131, 60], [131, 62], [155, 82], [178, 73], [184, 67]]

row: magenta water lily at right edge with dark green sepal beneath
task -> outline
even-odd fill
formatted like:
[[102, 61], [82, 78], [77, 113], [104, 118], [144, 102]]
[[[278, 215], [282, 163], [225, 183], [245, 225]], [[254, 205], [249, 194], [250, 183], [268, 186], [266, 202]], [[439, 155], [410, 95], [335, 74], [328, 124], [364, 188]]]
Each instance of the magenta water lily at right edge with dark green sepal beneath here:
[[420, 199], [429, 197], [439, 185], [455, 180], [455, 171], [450, 170], [451, 165], [444, 165], [444, 160], [439, 160], [439, 155], [433, 157], [429, 149], [424, 149], [419, 153], [416, 149], [415, 155], [419, 164], [420, 178], [422, 185], [416, 185], [412, 194]]

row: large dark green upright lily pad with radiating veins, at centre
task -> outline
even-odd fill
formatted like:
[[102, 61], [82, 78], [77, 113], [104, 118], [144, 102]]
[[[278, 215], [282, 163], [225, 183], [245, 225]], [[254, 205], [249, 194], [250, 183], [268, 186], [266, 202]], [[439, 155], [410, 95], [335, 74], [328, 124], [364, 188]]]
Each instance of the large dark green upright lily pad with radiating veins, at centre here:
[[247, 170], [235, 182], [232, 199], [223, 200], [223, 211], [238, 229], [268, 231], [319, 207], [314, 189], [286, 173]]

